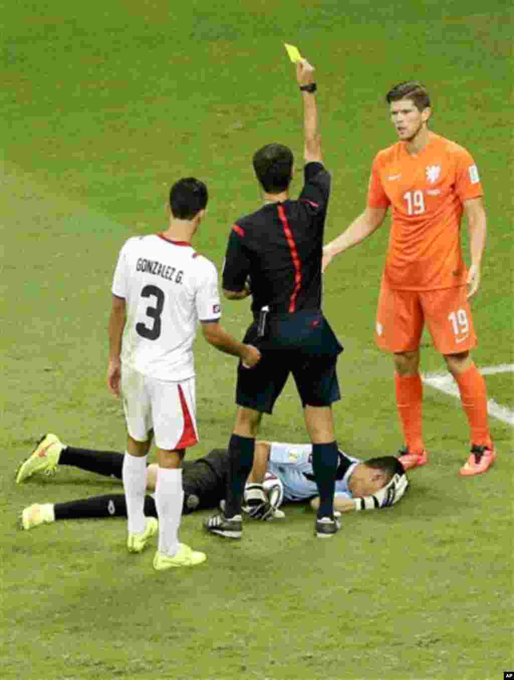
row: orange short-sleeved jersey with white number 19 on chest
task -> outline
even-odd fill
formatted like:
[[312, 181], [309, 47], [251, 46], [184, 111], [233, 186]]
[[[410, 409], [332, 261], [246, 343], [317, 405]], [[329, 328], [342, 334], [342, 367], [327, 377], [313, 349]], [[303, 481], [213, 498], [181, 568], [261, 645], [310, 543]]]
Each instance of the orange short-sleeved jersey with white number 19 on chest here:
[[460, 248], [462, 204], [482, 195], [477, 166], [453, 141], [430, 133], [412, 156], [398, 142], [371, 169], [369, 207], [392, 205], [384, 279], [396, 290], [436, 290], [466, 283]]

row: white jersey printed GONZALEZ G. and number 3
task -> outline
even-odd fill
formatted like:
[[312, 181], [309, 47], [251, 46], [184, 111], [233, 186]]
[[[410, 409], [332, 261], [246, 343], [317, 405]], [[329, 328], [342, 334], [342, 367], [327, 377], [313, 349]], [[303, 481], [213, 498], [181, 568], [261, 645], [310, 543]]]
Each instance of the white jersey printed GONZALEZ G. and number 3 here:
[[213, 263], [184, 241], [132, 237], [120, 250], [112, 292], [126, 303], [122, 364], [161, 380], [192, 377], [196, 326], [221, 316]]

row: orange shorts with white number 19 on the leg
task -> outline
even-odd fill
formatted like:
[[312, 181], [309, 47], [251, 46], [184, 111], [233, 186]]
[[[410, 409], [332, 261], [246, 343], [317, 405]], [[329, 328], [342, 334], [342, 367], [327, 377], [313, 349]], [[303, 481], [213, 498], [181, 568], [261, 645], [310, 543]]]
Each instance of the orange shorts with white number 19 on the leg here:
[[466, 286], [441, 290], [393, 290], [382, 280], [375, 341], [388, 352], [413, 352], [424, 324], [441, 354], [466, 352], [477, 344]]

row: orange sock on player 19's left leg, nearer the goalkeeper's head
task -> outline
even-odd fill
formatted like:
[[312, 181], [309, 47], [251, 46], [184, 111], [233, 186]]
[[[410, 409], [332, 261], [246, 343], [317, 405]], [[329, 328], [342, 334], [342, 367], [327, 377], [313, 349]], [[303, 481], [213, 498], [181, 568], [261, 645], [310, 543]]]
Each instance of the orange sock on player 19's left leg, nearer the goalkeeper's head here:
[[421, 376], [394, 374], [396, 406], [402, 423], [403, 438], [411, 454], [421, 454], [425, 447], [422, 438], [422, 398]]

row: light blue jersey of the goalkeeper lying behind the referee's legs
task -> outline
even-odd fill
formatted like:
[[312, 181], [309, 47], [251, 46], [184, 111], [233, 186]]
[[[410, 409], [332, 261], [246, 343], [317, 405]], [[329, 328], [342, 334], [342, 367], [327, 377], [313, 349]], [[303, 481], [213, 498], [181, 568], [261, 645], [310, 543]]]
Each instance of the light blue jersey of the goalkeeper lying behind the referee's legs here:
[[[336, 480], [335, 495], [353, 498], [348, 480], [361, 460], [343, 454], [350, 462], [343, 479]], [[284, 497], [288, 500], [305, 500], [318, 496], [312, 467], [312, 444], [271, 443], [269, 472], [277, 475], [284, 485]]]

